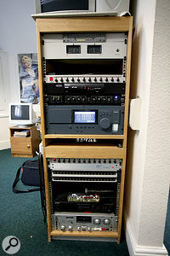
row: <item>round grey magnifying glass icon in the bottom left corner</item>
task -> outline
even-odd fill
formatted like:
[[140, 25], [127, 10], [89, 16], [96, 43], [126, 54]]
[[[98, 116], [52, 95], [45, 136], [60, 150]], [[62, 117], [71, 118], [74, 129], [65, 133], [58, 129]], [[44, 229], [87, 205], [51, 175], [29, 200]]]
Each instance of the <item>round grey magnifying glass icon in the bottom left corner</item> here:
[[2, 247], [5, 253], [18, 253], [20, 250], [20, 240], [16, 236], [7, 236], [3, 239]]

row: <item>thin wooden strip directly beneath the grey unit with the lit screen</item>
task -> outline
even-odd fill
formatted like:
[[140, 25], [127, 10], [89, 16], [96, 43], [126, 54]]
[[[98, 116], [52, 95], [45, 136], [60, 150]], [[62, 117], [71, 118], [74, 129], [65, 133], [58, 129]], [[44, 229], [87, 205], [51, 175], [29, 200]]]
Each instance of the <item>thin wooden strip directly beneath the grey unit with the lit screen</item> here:
[[95, 139], [124, 139], [124, 135], [94, 135], [94, 134], [46, 134], [46, 139], [50, 138], [95, 138]]

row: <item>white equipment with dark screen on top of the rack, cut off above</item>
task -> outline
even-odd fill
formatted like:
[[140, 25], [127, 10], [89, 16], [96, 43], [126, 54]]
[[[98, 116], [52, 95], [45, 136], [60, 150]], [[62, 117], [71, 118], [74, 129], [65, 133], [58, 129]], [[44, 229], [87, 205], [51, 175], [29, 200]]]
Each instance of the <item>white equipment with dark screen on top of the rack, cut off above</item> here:
[[36, 13], [43, 15], [120, 15], [129, 10], [129, 0], [36, 0], [35, 3]]

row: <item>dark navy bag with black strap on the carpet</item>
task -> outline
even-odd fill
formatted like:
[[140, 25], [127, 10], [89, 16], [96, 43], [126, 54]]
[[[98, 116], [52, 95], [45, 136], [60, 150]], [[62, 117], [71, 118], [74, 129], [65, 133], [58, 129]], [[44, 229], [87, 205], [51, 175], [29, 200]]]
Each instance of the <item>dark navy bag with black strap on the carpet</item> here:
[[21, 181], [28, 186], [38, 186], [40, 187], [40, 173], [39, 173], [39, 160], [26, 160], [22, 166], [18, 169], [16, 177], [13, 183], [13, 192], [18, 193], [28, 193], [33, 191], [39, 191], [40, 189], [27, 189], [18, 190], [15, 189], [16, 184], [19, 181], [21, 172]]

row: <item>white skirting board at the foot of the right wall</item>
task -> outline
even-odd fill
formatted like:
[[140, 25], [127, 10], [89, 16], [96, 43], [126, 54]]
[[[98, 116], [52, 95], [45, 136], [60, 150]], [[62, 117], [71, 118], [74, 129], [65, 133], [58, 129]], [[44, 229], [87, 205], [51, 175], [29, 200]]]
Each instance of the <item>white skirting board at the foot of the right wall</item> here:
[[133, 236], [133, 229], [130, 224], [129, 219], [124, 212], [124, 226], [125, 226], [125, 236], [127, 241], [128, 252], [130, 256], [168, 256], [167, 249], [162, 245], [162, 247], [144, 247], [139, 246], [136, 239]]

